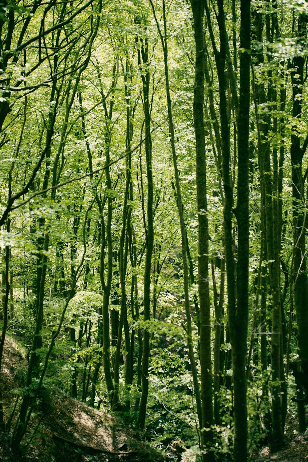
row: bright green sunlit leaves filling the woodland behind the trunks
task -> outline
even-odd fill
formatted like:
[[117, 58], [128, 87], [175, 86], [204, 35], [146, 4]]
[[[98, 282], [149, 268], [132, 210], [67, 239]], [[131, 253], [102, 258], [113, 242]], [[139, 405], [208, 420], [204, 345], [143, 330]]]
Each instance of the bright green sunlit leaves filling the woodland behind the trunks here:
[[[43, 407], [51, 391], [58, 387], [89, 405], [118, 412], [124, 419], [136, 422], [138, 402], [142, 395], [142, 340], [145, 334], [149, 334], [151, 351], [145, 437], [159, 447], [166, 447], [179, 436], [187, 446], [195, 445], [199, 441], [200, 430], [187, 349], [184, 265], [170, 149], [164, 54], [152, 9], [142, 0], [125, 0], [107, 2], [100, 11], [100, 2], [94, 1], [74, 16], [77, 8], [86, 2], [59, 2], [59, 5], [56, 2], [53, 5], [47, 1], [38, 3], [33, 13], [30, 13], [33, 5], [29, 1], [24, 1], [23, 5], [20, 2], [6, 3], [6, 6], [0, 6], [0, 116], [4, 115], [0, 128], [2, 213], [10, 196], [18, 192], [22, 194], [9, 205], [10, 222], [5, 220], [0, 229], [2, 318], [7, 276], [12, 288], [7, 307], [8, 334], [14, 334], [23, 343], [28, 361], [36, 340], [40, 339], [36, 347], [35, 369], [38, 372], [35, 376], [30, 371], [33, 377], [28, 378], [30, 383], [27, 384], [25, 372], [18, 371], [16, 380], [19, 385], [14, 394], [22, 397], [29, 395], [31, 398], [36, 396], [39, 376], [53, 341], [42, 381], [43, 388], [37, 398], [38, 407]], [[266, 240], [262, 242], [265, 233], [262, 212], [265, 206], [262, 203], [261, 183], [264, 179], [271, 182], [272, 205], [276, 204], [279, 209], [278, 256], [286, 269], [282, 268], [278, 279], [283, 296], [284, 326], [286, 330], [289, 326], [291, 334], [288, 354], [297, 354], [298, 326], [292, 312], [296, 312], [294, 292], [298, 287], [294, 288], [294, 285], [306, 270], [294, 273], [296, 224], [292, 215], [306, 217], [307, 198], [305, 192], [299, 198], [293, 197], [296, 188], [292, 169], [295, 165], [290, 159], [290, 151], [294, 137], [300, 140], [298, 152], [307, 140], [308, 102], [306, 77], [296, 87], [292, 85], [292, 79], [294, 81], [301, 77], [295, 60], [307, 59], [308, 42], [307, 34], [305, 37], [296, 36], [296, 21], [307, 14], [306, 1], [281, 0], [272, 3], [253, 0], [251, 6], [255, 29], [252, 49], [249, 50], [253, 85], [248, 159], [250, 255], [247, 330], [249, 336], [255, 336], [255, 342], [252, 352], [253, 377], [248, 382], [247, 402], [250, 449], [257, 450], [269, 438], [265, 422], [271, 407], [271, 394], [267, 399], [267, 389], [270, 389], [272, 379], [267, 383], [265, 372], [261, 373], [260, 338], [267, 335], [269, 344], [275, 293], [269, 285], [274, 260], [266, 255]], [[160, 2], [155, 4], [155, 8], [158, 24], [162, 28]], [[242, 199], [237, 197], [237, 91], [240, 74], [237, 60], [246, 51], [239, 48], [239, 8], [239, 2], [230, 2], [230, 5], [225, 2], [224, 17], [229, 42], [223, 73], [226, 78], [224, 91], [230, 132], [227, 144], [230, 146], [229, 174], [233, 189], [231, 225], [235, 261], [240, 252], [236, 206]], [[218, 44], [216, 16], [214, 11], [210, 14], [213, 36]], [[71, 15], [74, 17], [71, 18]], [[277, 24], [274, 22], [276, 15]], [[100, 23], [96, 22], [98, 18]], [[262, 24], [261, 40], [256, 38], [258, 18]], [[59, 24], [62, 25], [58, 28]], [[24, 36], [21, 35], [23, 27], [26, 31]], [[40, 36], [42, 30], [46, 32], [44, 36]], [[193, 121], [195, 44], [189, 2], [178, 0], [166, 5], [166, 31], [175, 148], [187, 246], [191, 255], [191, 335], [200, 381], [197, 316], [200, 281]], [[27, 41], [30, 42], [27, 44]], [[146, 44], [148, 62], [138, 65], [138, 53], [144, 53]], [[224, 277], [222, 262], [226, 257], [225, 188], [221, 175], [223, 143], [219, 118], [219, 73], [215, 67], [208, 29], [205, 31], [204, 50], [204, 64], [208, 72], [205, 76], [204, 105], [207, 210], [199, 213], [208, 219], [208, 256], [210, 261], [213, 260], [214, 280], [210, 265], [208, 268], [211, 341], [213, 345], [214, 331], [220, 322], [220, 361], [224, 363], [220, 364], [220, 369], [222, 375], [225, 374], [225, 377], [221, 377], [217, 392], [221, 422], [211, 428], [215, 453], [227, 458], [234, 438], [234, 402], [232, 366], [226, 359], [226, 353], [231, 349], [226, 327], [228, 281], [221, 285]], [[147, 76], [151, 99], [154, 251], [149, 293], [151, 313], [150, 319], [144, 321], [143, 278], [149, 191], [142, 77]], [[7, 108], [6, 103], [9, 103]], [[295, 103], [300, 104], [300, 113], [295, 114]], [[51, 143], [48, 145], [48, 134], [51, 133]], [[264, 146], [268, 154], [268, 171], [261, 168], [260, 153]], [[44, 158], [32, 181], [31, 176], [42, 153]], [[301, 182], [304, 185], [307, 172], [303, 166], [307, 165], [307, 152], [302, 152], [302, 156], [296, 168], [303, 170]], [[108, 165], [107, 159], [110, 159]], [[130, 182], [127, 183], [129, 175]], [[29, 188], [24, 190], [28, 182]], [[273, 191], [275, 185], [277, 191]], [[306, 218], [304, 224], [303, 235], [306, 233]], [[122, 230], [124, 243], [121, 241]], [[303, 241], [305, 247], [305, 236]], [[10, 249], [9, 274], [6, 274], [6, 248]], [[124, 280], [121, 281], [122, 262], [119, 260], [122, 249], [126, 260], [122, 268]], [[111, 256], [113, 274], [109, 280], [108, 262]], [[306, 248], [302, 252], [302, 261], [305, 258]], [[238, 269], [235, 265], [235, 278]], [[261, 273], [263, 276], [258, 282]], [[125, 300], [121, 283], [125, 285]], [[265, 319], [261, 319], [263, 289], [267, 302]], [[219, 303], [220, 294], [223, 314], [217, 321], [215, 304]], [[118, 393], [118, 403], [111, 402], [113, 389], [107, 389], [106, 383], [104, 309], [107, 310], [105, 320], [109, 316], [110, 348], [107, 353], [110, 355], [111, 380]], [[39, 334], [34, 335], [36, 328]], [[248, 348], [249, 341], [250, 338]], [[269, 360], [270, 353], [267, 352], [266, 356]], [[115, 383], [116, 357], [119, 362], [118, 383]], [[128, 383], [127, 377], [129, 360], [132, 383]], [[270, 373], [269, 370], [267, 372]], [[288, 393], [294, 395], [295, 385], [290, 375], [287, 385]], [[290, 403], [288, 412], [295, 413], [294, 409], [294, 403]]]

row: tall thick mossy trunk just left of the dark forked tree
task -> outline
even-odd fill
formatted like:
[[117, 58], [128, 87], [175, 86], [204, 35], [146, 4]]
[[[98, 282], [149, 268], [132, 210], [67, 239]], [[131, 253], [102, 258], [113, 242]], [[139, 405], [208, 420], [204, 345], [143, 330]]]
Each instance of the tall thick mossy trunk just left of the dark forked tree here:
[[200, 326], [200, 365], [201, 365], [201, 406], [202, 459], [213, 461], [213, 390], [211, 360], [211, 312], [208, 286], [208, 220], [207, 220], [207, 180], [204, 133], [204, 4], [201, 0], [190, 1], [195, 36], [195, 85], [194, 85], [194, 127], [196, 144], [196, 185], [198, 206], [198, 292]]

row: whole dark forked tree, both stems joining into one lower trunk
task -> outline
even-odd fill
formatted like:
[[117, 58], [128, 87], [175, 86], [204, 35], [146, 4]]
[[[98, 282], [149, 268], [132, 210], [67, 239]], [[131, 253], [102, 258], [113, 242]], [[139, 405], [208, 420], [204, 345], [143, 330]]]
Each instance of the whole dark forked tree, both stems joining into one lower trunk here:
[[[228, 294], [228, 319], [232, 345], [234, 383], [234, 458], [247, 459], [247, 407], [246, 407], [246, 339], [248, 325], [248, 267], [249, 267], [249, 66], [250, 66], [250, 3], [241, 2], [240, 29], [240, 87], [239, 97], [234, 93], [237, 118], [238, 180], [237, 206], [233, 208], [233, 185], [230, 174], [230, 120], [226, 99], [225, 65], [230, 56], [225, 27], [224, 2], [218, 2], [217, 23], [220, 50], [216, 48], [212, 19], [205, 3], [210, 39], [214, 51], [219, 79], [220, 130], [222, 141], [222, 177], [224, 185], [225, 259]], [[236, 52], [236, 50], [234, 50]], [[230, 59], [230, 58], [229, 58]], [[234, 70], [228, 63], [231, 91]], [[237, 103], [238, 100], [238, 103]], [[232, 214], [237, 219], [237, 274], [232, 237]]]

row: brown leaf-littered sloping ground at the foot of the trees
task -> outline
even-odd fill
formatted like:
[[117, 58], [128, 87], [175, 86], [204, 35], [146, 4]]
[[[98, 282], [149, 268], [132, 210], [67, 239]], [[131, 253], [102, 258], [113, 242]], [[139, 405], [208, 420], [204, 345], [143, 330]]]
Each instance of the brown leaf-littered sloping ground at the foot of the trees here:
[[[0, 386], [5, 419], [12, 412], [27, 360], [12, 339], [6, 339]], [[12, 393], [12, 390], [16, 390]], [[6, 413], [7, 412], [7, 413]], [[37, 431], [32, 438], [33, 431]], [[31, 439], [32, 438], [32, 439]], [[24, 451], [16, 452], [0, 441], [2, 462], [195, 462], [197, 448], [163, 454], [136, 438], [129, 423], [98, 411], [59, 392], [46, 395], [34, 410], [32, 427], [25, 435]], [[25, 450], [26, 449], [26, 450]], [[308, 434], [296, 433], [296, 416], [290, 415], [283, 450], [270, 454], [263, 448], [250, 462], [308, 462]]]

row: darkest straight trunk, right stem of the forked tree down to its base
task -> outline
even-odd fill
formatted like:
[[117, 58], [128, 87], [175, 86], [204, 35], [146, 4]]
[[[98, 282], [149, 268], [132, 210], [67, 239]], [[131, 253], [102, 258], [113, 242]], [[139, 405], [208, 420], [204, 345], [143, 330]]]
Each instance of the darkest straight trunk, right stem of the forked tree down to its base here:
[[[237, 305], [229, 309], [234, 383], [234, 460], [247, 460], [246, 355], [249, 284], [250, 1], [241, 0], [240, 89], [237, 117]], [[235, 310], [234, 310], [235, 308]]]

